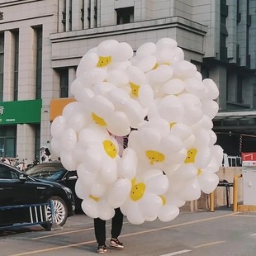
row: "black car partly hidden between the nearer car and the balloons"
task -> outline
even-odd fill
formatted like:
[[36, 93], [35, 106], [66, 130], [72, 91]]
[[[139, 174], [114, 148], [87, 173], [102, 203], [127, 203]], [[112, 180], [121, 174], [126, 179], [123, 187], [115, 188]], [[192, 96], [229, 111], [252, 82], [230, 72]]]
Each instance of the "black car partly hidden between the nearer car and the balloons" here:
[[68, 171], [59, 161], [37, 164], [26, 171], [33, 178], [52, 181], [69, 187], [73, 192], [76, 210], [81, 210], [82, 200], [77, 197], [74, 190], [75, 183], [78, 180], [76, 171]]

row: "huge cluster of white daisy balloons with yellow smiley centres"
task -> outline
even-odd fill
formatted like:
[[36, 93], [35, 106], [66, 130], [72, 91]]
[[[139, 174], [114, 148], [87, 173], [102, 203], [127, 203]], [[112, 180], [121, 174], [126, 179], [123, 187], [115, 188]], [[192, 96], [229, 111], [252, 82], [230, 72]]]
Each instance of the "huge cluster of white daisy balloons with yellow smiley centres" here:
[[[184, 60], [175, 40], [105, 40], [83, 55], [51, 149], [76, 169], [76, 193], [92, 218], [114, 209], [133, 224], [173, 220], [186, 201], [216, 188], [223, 150], [212, 119], [219, 90]], [[128, 145], [118, 144], [127, 137]]]

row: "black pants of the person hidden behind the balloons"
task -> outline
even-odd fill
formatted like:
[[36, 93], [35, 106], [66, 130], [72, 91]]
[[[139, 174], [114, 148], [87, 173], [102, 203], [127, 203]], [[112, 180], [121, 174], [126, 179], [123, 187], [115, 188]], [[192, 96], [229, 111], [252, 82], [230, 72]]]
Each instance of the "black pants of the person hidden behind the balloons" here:
[[[117, 239], [121, 234], [124, 216], [120, 208], [115, 209], [115, 211], [115, 216], [111, 221], [111, 237]], [[106, 220], [101, 220], [100, 218], [94, 219], [94, 232], [97, 244], [104, 245], [106, 242]]]

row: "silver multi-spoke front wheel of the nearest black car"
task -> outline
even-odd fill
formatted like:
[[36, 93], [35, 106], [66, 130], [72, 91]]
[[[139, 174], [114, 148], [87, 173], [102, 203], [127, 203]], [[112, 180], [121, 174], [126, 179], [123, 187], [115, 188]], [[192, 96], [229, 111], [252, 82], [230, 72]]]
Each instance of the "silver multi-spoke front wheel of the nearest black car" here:
[[[66, 206], [63, 199], [60, 197], [50, 197], [53, 201], [55, 220], [53, 221], [55, 225], [64, 225], [68, 218], [68, 207]], [[50, 207], [47, 209], [47, 215], [51, 220]]]

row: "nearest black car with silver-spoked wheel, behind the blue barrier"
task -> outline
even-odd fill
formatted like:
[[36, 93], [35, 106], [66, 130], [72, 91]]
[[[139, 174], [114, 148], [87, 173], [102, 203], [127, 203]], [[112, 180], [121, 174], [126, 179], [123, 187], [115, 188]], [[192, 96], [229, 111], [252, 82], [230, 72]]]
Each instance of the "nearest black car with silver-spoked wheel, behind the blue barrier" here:
[[[0, 209], [1, 206], [40, 204], [50, 200], [54, 205], [55, 224], [64, 225], [75, 210], [73, 192], [69, 187], [31, 177], [9, 164], [0, 163]], [[0, 211], [0, 225], [12, 225], [17, 215], [22, 215], [21, 210], [17, 210], [15, 216]]]

